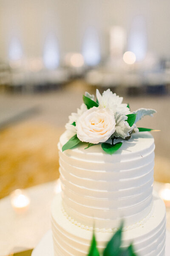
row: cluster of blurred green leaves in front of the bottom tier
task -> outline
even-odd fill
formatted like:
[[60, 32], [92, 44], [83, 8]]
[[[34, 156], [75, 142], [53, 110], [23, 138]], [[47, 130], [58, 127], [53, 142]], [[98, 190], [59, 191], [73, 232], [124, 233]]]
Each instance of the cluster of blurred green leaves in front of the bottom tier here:
[[[108, 244], [106, 244], [106, 247], [102, 252], [102, 256], [137, 256], [137, 254], [134, 251], [133, 244], [130, 244], [126, 248], [121, 248], [122, 228], [123, 223], [120, 224], [119, 229], [112, 236], [111, 240], [108, 241]], [[89, 249], [88, 256], [100, 256], [99, 250], [96, 246], [96, 237], [94, 233], [91, 240], [91, 246]]]

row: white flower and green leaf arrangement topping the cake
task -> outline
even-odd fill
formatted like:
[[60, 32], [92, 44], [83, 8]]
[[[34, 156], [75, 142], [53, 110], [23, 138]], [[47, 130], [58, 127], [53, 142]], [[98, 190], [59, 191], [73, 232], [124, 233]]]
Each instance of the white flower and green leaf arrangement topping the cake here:
[[83, 101], [80, 109], [69, 116], [69, 122], [65, 125], [69, 140], [63, 145], [62, 151], [82, 143], [88, 143], [85, 148], [100, 143], [106, 153], [113, 154], [123, 143], [115, 143], [115, 139], [128, 140], [133, 133], [153, 131], [150, 128], [137, 128], [136, 122], [143, 116], [153, 116], [155, 110], [139, 108], [131, 112], [129, 105], [122, 103], [123, 98], [110, 89], [102, 95], [96, 90], [96, 100], [94, 95], [86, 92]]

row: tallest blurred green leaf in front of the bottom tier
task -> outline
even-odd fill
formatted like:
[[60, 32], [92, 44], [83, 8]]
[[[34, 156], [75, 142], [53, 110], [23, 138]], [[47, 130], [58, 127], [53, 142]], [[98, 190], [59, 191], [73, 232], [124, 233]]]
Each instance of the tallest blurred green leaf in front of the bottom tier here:
[[106, 248], [103, 251], [103, 256], [119, 256], [119, 253], [121, 252], [120, 245], [122, 242], [122, 228], [123, 222], [106, 245]]

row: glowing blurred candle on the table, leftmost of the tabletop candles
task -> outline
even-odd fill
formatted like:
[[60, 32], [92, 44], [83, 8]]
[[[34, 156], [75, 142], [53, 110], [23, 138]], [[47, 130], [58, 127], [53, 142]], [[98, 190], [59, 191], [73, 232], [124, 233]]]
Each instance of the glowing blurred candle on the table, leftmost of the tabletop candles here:
[[11, 193], [11, 205], [16, 212], [25, 212], [30, 204], [28, 196], [21, 189]]

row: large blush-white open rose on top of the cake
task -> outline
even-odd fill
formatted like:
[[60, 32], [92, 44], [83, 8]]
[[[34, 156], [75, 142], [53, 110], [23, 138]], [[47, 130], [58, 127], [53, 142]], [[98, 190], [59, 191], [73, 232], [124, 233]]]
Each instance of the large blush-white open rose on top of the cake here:
[[77, 120], [77, 137], [83, 142], [97, 144], [108, 140], [115, 131], [113, 111], [106, 108], [90, 108]]

